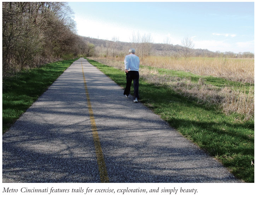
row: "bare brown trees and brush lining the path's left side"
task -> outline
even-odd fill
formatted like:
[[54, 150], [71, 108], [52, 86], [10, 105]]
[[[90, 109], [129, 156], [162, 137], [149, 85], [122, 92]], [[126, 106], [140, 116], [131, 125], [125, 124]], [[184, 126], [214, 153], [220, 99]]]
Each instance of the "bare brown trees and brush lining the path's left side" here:
[[86, 53], [67, 2], [2, 2], [2, 75]]

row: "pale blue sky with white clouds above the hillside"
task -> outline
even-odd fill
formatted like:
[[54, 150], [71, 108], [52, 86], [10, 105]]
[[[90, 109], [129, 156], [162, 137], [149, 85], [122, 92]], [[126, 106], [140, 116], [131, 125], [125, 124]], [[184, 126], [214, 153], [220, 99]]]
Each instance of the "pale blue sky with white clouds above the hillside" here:
[[191, 36], [194, 48], [254, 53], [254, 2], [69, 2], [77, 33], [130, 42], [132, 32], [153, 42], [180, 44]]

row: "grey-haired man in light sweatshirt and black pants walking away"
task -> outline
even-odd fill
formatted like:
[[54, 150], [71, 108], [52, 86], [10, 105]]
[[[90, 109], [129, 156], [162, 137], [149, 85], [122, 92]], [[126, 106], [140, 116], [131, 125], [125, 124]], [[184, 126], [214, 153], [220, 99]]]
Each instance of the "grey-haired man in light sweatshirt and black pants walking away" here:
[[124, 89], [123, 94], [128, 98], [130, 94], [130, 88], [132, 85], [134, 86], [134, 96], [133, 101], [138, 102], [139, 99], [139, 66], [140, 59], [135, 54], [135, 49], [129, 49], [129, 55], [126, 55], [124, 58], [124, 69], [126, 72], [126, 88]]

